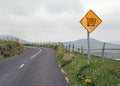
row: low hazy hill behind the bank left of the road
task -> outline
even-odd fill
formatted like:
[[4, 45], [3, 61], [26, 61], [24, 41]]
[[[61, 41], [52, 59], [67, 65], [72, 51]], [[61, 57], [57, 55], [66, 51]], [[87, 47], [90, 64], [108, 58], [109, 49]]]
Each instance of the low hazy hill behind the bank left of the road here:
[[29, 41], [25, 41], [23, 39], [10, 36], [10, 35], [0, 35], [0, 40], [8, 40], [8, 41], [18, 41], [20, 43], [30, 43]]

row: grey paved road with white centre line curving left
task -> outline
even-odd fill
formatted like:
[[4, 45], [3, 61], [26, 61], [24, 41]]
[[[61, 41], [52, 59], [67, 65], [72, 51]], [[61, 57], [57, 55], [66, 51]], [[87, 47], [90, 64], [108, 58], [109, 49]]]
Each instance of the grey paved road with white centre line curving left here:
[[0, 61], [0, 86], [69, 85], [53, 50], [27, 47], [25, 53]]

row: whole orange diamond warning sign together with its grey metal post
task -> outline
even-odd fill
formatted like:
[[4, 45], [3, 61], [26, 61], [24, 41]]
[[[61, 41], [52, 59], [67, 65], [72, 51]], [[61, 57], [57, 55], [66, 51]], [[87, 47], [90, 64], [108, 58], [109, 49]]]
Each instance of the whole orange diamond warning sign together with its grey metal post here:
[[102, 20], [92, 11], [88, 11], [87, 14], [80, 20], [82, 26], [87, 30], [87, 42], [88, 42], [88, 65], [90, 65], [90, 32], [102, 22]]

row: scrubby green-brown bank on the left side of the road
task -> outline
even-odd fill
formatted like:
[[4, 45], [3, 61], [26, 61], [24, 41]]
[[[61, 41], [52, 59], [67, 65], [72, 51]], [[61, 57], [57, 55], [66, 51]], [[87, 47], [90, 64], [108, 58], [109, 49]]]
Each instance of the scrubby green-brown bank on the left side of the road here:
[[0, 60], [18, 55], [24, 51], [25, 48], [18, 42], [0, 40]]

